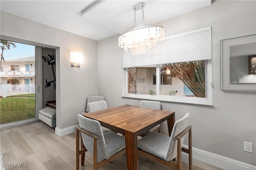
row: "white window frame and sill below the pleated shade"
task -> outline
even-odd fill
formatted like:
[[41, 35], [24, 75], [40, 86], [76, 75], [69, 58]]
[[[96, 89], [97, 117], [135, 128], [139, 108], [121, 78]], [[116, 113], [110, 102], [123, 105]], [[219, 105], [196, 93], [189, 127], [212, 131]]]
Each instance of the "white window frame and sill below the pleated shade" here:
[[168, 96], [160, 95], [160, 65], [156, 64], [156, 95], [148, 94], [128, 94], [128, 68], [123, 68], [123, 83], [122, 83], [122, 97], [123, 98], [136, 98], [143, 100], [156, 100], [164, 102], [178, 102], [186, 104], [199, 104], [199, 105], [208, 105], [212, 106], [212, 61], [211, 59], [205, 60], [206, 66], [206, 97], [186, 97], [186, 96]]

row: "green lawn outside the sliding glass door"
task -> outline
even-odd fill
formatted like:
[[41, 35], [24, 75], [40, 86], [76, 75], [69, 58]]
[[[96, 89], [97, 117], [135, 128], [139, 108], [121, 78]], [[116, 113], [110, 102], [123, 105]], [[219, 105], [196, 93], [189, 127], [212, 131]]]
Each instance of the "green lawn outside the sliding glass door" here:
[[[33, 97], [33, 94], [21, 97]], [[35, 98], [0, 98], [0, 124], [35, 118], [35, 104]]]

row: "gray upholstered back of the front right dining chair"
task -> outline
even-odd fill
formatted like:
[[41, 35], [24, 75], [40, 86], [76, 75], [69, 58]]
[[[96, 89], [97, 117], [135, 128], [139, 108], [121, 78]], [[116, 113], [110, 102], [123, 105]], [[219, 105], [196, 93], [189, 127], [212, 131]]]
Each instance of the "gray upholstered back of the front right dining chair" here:
[[[184, 129], [186, 129], [186, 127], [188, 126], [188, 117], [189, 117], [190, 113], [186, 113], [186, 115], [184, 115], [184, 117], [182, 117], [181, 119], [177, 120], [174, 123], [173, 129], [172, 129], [172, 134], [170, 137], [170, 142], [168, 145], [168, 152], [167, 152], [167, 160], [172, 160], [174, 158], [176, 158], [177, 156], [177, 139], [176, 136], [179, 135], [182, 131], [184, 131]], [[180, 139], [180, 143], [181, 146], [183, 145], [184, 142], [184, 137], [182, 137]]]

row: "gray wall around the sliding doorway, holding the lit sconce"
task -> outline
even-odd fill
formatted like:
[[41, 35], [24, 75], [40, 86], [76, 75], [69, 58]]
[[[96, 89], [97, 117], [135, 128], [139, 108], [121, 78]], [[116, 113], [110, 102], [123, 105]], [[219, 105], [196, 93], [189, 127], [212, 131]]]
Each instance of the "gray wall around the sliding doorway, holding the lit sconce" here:
[[[56, 127], [78, 124], [86, 97], [98, 95], [97, 41], [1, 11], [1, 37], [56, 49]], [[82, 52], [80, 68], [70, 66], [70, 51]], [[44, 88], [40, 87], [42, 90]]]

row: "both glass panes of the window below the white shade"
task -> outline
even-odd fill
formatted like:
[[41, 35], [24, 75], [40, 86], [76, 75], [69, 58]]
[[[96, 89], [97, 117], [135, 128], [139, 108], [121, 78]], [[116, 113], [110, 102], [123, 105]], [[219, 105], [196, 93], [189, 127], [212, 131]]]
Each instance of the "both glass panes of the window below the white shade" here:
[[[157, 65], [161, 68], [160, 95], [205, 98], [205, 61]], [[169, 70], [166, 73], [165, 70]], [[128, 94], [156, 93], [156, 66], [128, 68]], [[173, 80], [173, 84], [170, 84]], [[153, 82], [153, 83], [152, 83]], [[153, 91], [153, 92], [152, 92]]]

